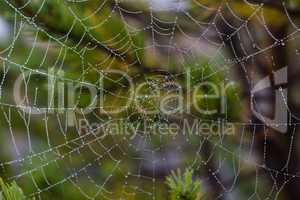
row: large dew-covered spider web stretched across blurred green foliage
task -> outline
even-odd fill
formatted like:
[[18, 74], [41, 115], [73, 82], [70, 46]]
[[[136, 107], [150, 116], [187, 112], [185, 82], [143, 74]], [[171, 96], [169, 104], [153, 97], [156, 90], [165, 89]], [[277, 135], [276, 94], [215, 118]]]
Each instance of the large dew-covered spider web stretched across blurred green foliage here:
[[[277, 66], [268, 55], [298, 37], [299, 28], [288, 6], [283, 4], [282, 8], [290, 32], [277, 38], [266, 22], [266, 6], [247, 1], [241, 2], [249, 12], [247, 17], [242, 17], [227, 1], [211, 4], [201, 1], [56, 2], [62, 8], [57, 11], [63, 13], [61, 22], [43, 17], [51, 7], [49, 1], [29, 0], [21, 4], [3, 1], [13, 14], [9, 19], [12, 37], [0, 52], [1, 145], [7, 146], [1, 148], [0, 168], [6, 180], [24, 185], [27, 197], [44, 199], [55, 193], [71, 199], [76, 193], [81, 195], [79, 199], [163, 199], [168, 192], [165, 176], [177, 168], [192, 168], [199, 172], [204, 190], [217, 194], [216, 198], [277, 199], [285, 185], [299, 178], [298, 172], [288, 171], [295, 151], [296, 122], [276, 124], [293, 130], [286, 164], [277, 169], [266, 164], [272, 151], [268, 144], [270, 128], [251, 118], [234, 120], [233, 114], [226, 112], [221, 118], [203, 119], [209, 123], [233, 124], [234, 136], [156, 135], [142, 128], [131, 130], [129, 135], [114, 135], [108, 129], [98, 129], [112, 121], [130, 122], [135, 127], [146, 121], [147, 128], [181, 122], [162, 113], [146, 115], [126, 110], [122, 115], [86, 114], [82, 109], [78, 112], [77, 107], [86, 95], [87, 86], [105, 93], [106, 101], [113, 104], [129, 99], [123, 91], [128, 87], [124, 77], [110, 77], [105, 70], [121, 70], [134, 81], [146, 83], [147, 89], [153, 92], [166, 90], [169, 80], [184, 76], [186, 63], [199, 56], [206, 62], [204, 67], [197, 63], [191, 69], [194, 83], [216, 78], [240, 84], [233, 75], [238, 68], [250, 90], [262, 75], [247, 67], [249, 63], [254, 65], [261, 59], [258, 56], [263, 55], [274, 68], [284, 67]], [[31, 7], [36, 9], [32, 12]], [[199, 12], [204, 17], [197, 16]], [[47, 27], [47, 23], [52, 25]], [[62, 28], [60, 23], [70, 26]], [[227, 27], [227, 31], [220, 30], [220, 26]], [[109, 29], [114, 27], [118, 29], [117, 34], [110, 34]], [[259, 29], [258, 33], [253, 31], [254, 27]], [[99, 30], [102, 32], [98, 33]], [[271, 44], [263, 45], [260, 36], [272, 41]], [[137, 37], [145, 44], [140, 44]], [[236, 52], [233, 38], [239, 41], [242, 53]], [[232, 58], [228, 52], [232, 52]], [[23, 78], [25, 91], [20, 105], [12, 103], [13, 80], [17, 77]], [[53, 85], [80, 84], [74, 107], [55, 106], [58, 102], [54, 99], [50, 105], [40, 106], [39, 101], [45, 100], [43, 87], [50, 84], [40, 77], [50, 79]], [[103, 78], [109, 82], [108, 88], [101, 86]], [[176, 93], [176, 89], [167, 92]], [[238, 91], [233, 96], [234, 106], [243, 108], [246, 97]], [[147, 96], [141, 101], [155, 107]], [[114, 105], [106, 106], [109, 108], [113, 109]], [[199, 116], [189, 113], [186, 118]], [[89, 126], [83, 132], [78, 126], [79, 119], [101, 126]], [[74, 127], [69, 123], [74, 123]], [[263, 138], [261, 158], [256, 156], [256, 137]], [[271, 184], [267, 176], [274, 180]], [[277, 183], [277, 176], [285, 177], [283, 183]], [[247, 191], [242, 189], [243, 185], [247, 185]]]

